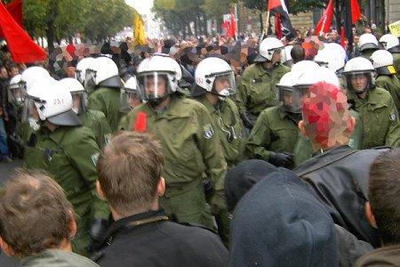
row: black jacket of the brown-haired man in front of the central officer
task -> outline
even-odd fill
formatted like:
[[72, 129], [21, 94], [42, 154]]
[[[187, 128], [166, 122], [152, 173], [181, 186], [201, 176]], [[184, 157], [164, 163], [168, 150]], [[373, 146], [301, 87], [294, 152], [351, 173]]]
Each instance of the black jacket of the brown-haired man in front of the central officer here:
[[168, 221], [163, 210], [136, 214], [108, 229], [93, 259], [100, 266], [224, 266], [228, 250], [202, 228]]

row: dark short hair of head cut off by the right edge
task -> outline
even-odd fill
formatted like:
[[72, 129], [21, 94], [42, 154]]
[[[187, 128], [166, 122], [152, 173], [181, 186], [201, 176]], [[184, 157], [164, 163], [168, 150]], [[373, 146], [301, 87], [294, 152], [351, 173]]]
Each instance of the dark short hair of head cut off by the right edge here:
[[370, 167], [368, 198], [383, 244], [400, 244], [400, 149], [383, 152]]

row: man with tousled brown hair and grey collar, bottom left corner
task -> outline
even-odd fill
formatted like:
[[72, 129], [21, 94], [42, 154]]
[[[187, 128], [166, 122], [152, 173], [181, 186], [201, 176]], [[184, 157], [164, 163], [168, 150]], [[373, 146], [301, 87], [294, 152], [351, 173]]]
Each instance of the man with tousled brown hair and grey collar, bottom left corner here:
[[74, 210], [57, 182], [19, 171], [0, 194], [0, 247], [21, 266], [99, 266], [72, 252]]

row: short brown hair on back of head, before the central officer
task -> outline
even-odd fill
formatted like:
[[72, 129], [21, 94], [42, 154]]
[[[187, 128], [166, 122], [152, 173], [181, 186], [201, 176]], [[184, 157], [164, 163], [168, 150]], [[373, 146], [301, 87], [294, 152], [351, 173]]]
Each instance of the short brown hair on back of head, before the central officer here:
[[117, 214], [147, 211], [157, 195], [164, 158], [148, 134], [120, 132], [100, 153], [97, 172], [101, 190]]

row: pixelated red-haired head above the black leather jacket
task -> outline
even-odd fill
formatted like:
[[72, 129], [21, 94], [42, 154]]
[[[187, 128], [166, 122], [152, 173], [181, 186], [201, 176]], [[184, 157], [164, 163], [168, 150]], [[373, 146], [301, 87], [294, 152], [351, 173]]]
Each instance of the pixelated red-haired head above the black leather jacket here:
[[351, 117], [346, 94], [337, 86], [325, 82], [310, 86], [301, 106], [310, 142], [319, 144], [321, 148], [348, 142], [352, 130]]

